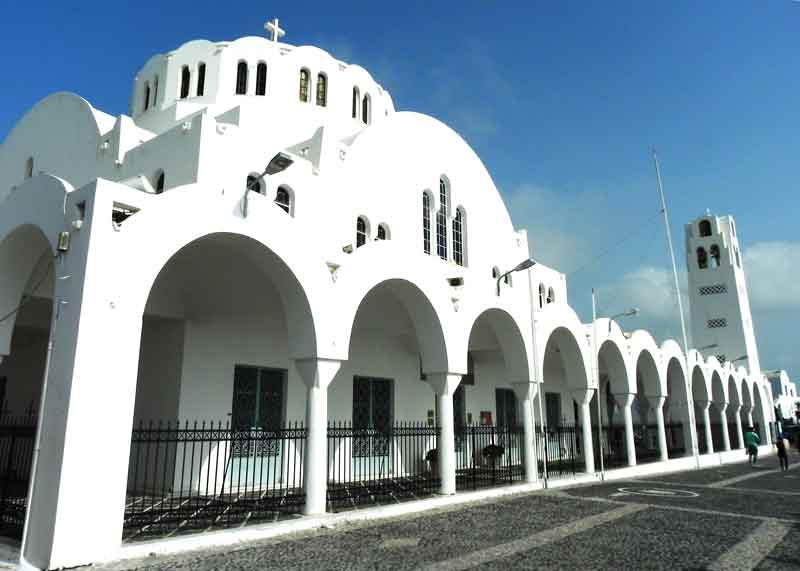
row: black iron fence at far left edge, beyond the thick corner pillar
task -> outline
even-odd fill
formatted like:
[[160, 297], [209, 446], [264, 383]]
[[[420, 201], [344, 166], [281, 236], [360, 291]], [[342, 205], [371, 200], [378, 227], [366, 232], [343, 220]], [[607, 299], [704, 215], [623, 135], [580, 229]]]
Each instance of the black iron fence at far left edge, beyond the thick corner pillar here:
[[0, 417], [0, 535], [22, 538], [37, 417]]

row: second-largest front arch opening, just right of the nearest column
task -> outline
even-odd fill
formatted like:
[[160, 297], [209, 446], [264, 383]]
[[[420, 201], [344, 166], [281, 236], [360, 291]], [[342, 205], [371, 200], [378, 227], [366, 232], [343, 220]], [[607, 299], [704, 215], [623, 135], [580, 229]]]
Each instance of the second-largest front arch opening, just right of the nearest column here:
[[329, 507], [436, 493], [441, 403], [433, 376], [447, 370], [436, 310], [410, 281], [388, 279], [359, 301], [349, 339], [349, 358], [328, 389]]

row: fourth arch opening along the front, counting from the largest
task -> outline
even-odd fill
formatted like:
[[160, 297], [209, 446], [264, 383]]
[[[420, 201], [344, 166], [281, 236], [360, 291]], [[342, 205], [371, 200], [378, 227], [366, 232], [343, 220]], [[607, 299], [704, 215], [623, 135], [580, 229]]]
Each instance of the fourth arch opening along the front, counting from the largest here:
[[592, 391], [583, 353], [566, 327], [555, 328], [547, 340], [542, 396], [548, 477], [594, 472], [589, 408]]

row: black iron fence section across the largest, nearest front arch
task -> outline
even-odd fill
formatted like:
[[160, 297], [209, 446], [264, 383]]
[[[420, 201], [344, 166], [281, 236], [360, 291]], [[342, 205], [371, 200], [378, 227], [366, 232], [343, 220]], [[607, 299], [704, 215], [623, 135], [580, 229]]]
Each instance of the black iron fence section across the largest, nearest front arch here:
[[272, 521], [301, 511], [306, 429], [140, 423], [131, 437], [124, 541]]

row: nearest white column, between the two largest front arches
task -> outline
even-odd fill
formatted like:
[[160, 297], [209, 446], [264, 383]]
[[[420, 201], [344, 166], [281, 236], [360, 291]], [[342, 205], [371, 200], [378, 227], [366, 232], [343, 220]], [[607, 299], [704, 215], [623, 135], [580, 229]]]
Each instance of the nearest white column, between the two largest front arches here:
[[303, 458], [303, 513], [325, 513], [328, 490], [328, 386], [341, 361], [297, 359], [294, 362], [306, 385], [306, 449]]

